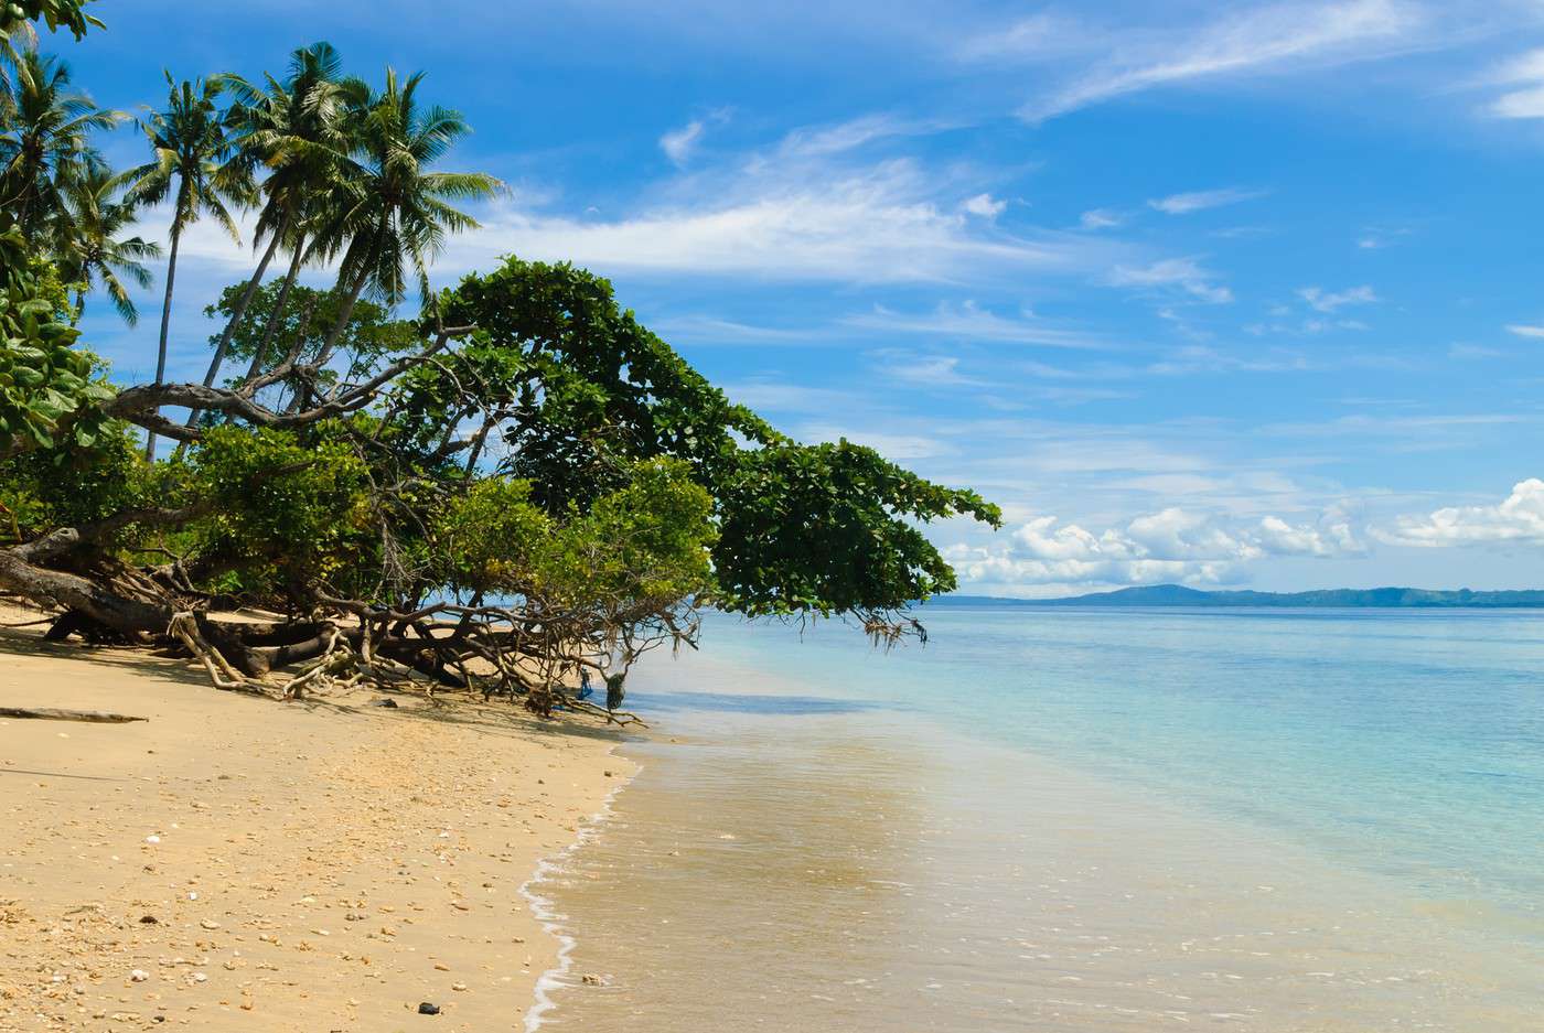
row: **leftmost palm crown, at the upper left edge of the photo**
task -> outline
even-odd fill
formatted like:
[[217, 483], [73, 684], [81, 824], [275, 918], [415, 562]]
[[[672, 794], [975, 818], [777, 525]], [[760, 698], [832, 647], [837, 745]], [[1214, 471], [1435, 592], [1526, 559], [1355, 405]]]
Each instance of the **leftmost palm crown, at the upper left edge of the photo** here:
[[105, 167], [91, 133], [111, 130], [124, 116], [71, 90], [69, 66], [36, 49], [19, 56], [3, 107], [0, 207], [36, 242], [63, 210], [66, 184]]

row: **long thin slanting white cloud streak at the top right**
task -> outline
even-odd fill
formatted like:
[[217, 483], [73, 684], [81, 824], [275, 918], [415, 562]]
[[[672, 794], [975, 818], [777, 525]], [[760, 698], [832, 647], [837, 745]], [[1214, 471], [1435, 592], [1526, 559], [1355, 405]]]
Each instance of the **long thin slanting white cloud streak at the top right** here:
[[[1413, 3], [1340, 0], [1258, 6], [1167, 31], [1085, 31], [1087, 49], [1109, 57], [1025, 105], [1022, 114], [1039, 120], [1197, 79], [1383, 57], [1410, 46], [1424, 23]], [[1031, 32], [1027, 42], [1039, 39]], [[1042, 59], [1044, 51], [1025, 49], [1024, 56]]]

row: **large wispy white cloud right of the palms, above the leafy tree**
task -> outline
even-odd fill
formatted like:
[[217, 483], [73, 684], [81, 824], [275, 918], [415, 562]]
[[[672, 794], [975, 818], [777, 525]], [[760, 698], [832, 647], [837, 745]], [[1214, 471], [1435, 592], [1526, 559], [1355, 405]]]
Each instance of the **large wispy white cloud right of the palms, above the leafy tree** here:
[[1122, 250], [1065, 232], [1005, 232], [959, 208], [968, 173], [852, 153], [906, 131], [923, 130], [860, 119], [791, 133], [767, 150], [659, 184], [619, 218], [550, 213], [519, 199], [494, 205], [482, 230], [455, 239], [440, 272], [486, 267], [514, 253], [598, 272], [990, 283], [1092, 272]]

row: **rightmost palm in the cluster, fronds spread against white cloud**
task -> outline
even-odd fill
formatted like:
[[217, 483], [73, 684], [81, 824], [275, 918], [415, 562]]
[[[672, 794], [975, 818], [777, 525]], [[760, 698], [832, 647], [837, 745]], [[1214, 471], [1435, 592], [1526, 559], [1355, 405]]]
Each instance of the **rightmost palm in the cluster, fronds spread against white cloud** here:
[[457, 111], [422, 107], [420, 82], [423, 73], [401, 82], [388, 68], [378, 93], [357, 79], [341, 86], [357, 144], [313, 244], [327, 258], [341, 255], [337, 292], [343, 303], [318, 363], [332, 355], [366, 290], [392, 306], [408, 296], [411, 276], [428, 301], [428, 267], [446, 235], [477, 227], [451, 202], [488, 198], [502, 187], [482, 173], [428, 171], [471, 130]]

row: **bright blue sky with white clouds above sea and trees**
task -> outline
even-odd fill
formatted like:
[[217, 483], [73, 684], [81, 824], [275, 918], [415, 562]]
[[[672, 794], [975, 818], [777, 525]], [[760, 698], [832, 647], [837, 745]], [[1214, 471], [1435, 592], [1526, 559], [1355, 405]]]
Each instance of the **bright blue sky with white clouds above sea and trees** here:
[[[757, 6], [100, 0], [51, 48], [125, 111], [318, 39], [426, 71], [508, 185], [437, 283], [571, 259], [792, 435], [976, 488], [963, 591], [1544, 587], [1544, 3]], [[173, 377], [250, 269], [190, 232]], [[153, 295], [88, 306], [125, 383]]]

